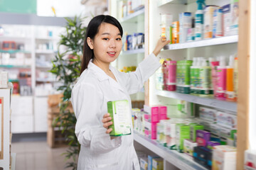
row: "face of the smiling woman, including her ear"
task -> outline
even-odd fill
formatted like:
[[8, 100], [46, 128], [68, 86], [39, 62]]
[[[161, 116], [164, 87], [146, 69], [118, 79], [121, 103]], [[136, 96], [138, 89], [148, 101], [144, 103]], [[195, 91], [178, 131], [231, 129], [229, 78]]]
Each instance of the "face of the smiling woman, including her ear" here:
[[87, 43], [93, 49], [97, 62], [114, 62], [122, 50], [122, 37], [119, 29], [110, 23], [102, 23], [99, 32]]

